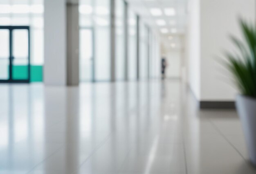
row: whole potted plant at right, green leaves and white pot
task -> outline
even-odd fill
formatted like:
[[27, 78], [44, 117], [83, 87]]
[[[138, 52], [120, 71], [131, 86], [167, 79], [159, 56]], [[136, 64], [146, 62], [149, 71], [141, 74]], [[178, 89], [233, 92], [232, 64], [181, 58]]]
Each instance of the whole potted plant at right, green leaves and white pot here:
[[236, 108], [240, 117], [249, 158], [256, 165], [256, 24], [240, 20], [243, 40], [231, 36], [238, 48], [237, 53], [227, 53], [227, 67], [231, 72], [240, 95]]

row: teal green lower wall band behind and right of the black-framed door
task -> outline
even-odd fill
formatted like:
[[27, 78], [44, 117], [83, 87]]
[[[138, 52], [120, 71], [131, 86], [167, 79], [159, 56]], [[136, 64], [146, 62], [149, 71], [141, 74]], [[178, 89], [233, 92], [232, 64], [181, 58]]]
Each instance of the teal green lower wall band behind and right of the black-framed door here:
[[[13, 66], [13, 79], [27, 79], [27, 66], [16, 65]], [[43, 81], [43, 66], [30, 66], [30, 82]]]

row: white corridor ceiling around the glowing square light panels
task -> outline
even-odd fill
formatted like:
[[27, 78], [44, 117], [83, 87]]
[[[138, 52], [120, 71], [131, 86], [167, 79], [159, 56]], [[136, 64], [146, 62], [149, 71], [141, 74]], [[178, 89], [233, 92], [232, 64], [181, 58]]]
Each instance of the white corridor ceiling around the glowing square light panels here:
[[[187, 0], [127, 0], [127, 2], [129, 7], [135, 11], [146, 24], [160, 34], [163, 42], [166, 42], [170, 35], [175, 39], [175, 37], [183, 34], [186, 30]], [[151, 15], [150, 9], [152, 8], [161, 9], [163, 14], [161, 16]], [[174, 8], [176, 14], [166, 16], [164, 14], [164, 9], [166, 8]], [[156, 23], [157, 20], [165, 20], [166, 25], [158, 26]], [[171, 21], [174, 21], [175, 24], [171, 24]], [[160, 30], [162, 28], [168, 29], [168, 33], [161, 33]], [[177, 33], [172, 33], [172, 29], [176, 29]]]

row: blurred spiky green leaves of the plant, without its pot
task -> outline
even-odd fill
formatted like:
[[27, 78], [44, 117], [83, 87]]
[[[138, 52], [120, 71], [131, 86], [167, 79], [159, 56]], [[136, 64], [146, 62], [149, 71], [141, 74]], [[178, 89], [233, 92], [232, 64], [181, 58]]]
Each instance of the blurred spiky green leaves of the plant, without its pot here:
[[242, 95], [256, 98], [256, 23], [239, 20], [243, 40], [231, 36], [238, 53], [226, 53], [227, 67]]

